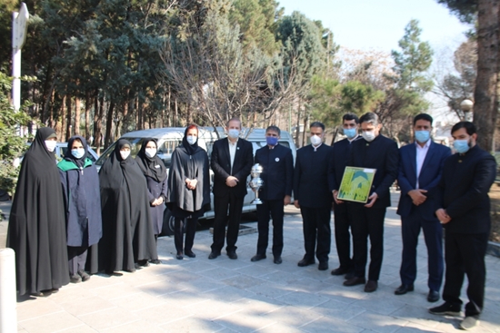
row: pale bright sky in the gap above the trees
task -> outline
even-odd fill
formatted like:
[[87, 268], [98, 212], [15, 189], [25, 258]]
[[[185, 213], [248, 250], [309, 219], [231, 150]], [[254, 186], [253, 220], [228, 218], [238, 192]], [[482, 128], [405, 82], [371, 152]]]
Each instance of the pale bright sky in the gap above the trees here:
[[433, 48], [454, 47], [470, 29], [436, 0], [278, 0], [285, 15], [299, 11], [321, 20], [334, 33], [336, 44], [354, 49], [389, 52], [405, 34], [405, 25], [417, 19], [422, 41]]

